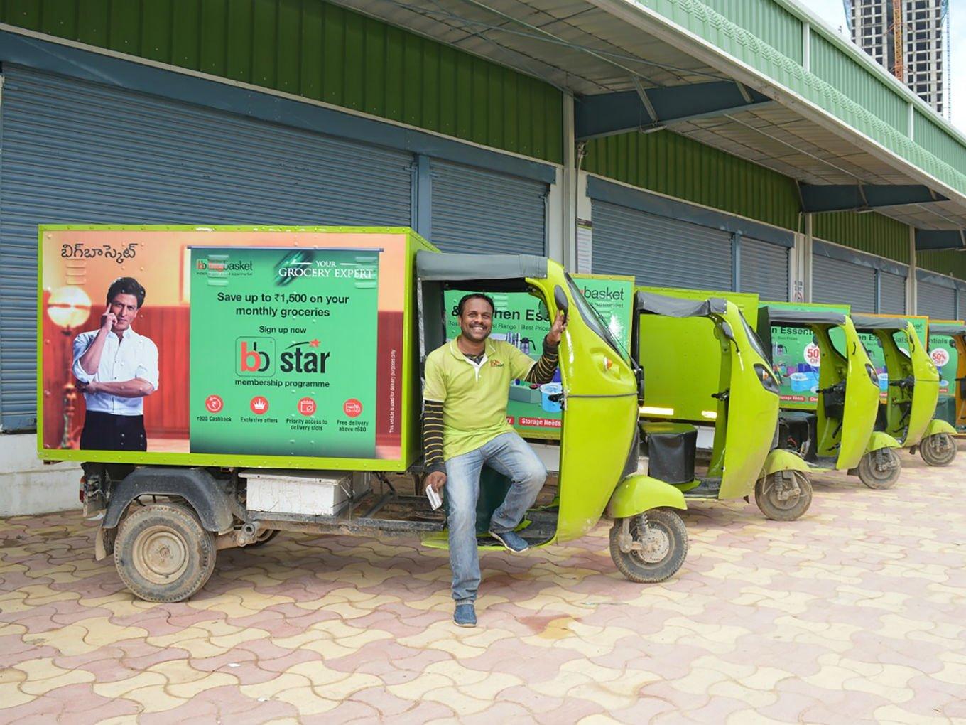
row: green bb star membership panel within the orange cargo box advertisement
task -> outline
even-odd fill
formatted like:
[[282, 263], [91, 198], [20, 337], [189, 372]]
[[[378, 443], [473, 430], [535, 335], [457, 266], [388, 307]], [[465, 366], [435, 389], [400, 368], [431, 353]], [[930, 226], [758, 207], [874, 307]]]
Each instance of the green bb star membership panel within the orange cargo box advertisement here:
[[191, 452], [374, 457], [378, 295], [372, 250], [192, 247]]

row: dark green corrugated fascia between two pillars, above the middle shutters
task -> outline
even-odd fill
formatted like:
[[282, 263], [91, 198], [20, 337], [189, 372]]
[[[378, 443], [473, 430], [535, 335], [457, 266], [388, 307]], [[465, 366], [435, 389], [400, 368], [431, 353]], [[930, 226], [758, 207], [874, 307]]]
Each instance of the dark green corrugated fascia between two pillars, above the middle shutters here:
[[633, 187], [798, 229], [795, 182], [777, 171], [671, 133], [620, 133], [586, 145], [583, 169]]

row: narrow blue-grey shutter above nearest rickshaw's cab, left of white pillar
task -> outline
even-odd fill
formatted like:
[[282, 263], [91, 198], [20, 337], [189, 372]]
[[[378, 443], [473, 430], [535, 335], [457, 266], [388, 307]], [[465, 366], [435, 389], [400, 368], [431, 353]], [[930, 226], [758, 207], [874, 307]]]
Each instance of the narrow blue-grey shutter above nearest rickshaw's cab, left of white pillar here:
[[543, 255], [543, 182], [431, 160], [430, 240], [443, 251]]

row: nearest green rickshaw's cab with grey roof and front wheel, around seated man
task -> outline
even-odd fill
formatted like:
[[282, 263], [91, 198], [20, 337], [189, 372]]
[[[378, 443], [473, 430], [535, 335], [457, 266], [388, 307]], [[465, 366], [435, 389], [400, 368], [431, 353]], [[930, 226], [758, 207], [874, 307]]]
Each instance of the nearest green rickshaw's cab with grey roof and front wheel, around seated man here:
[[[416, 255], [422, 360], [445, 340], [446, 290], [528, 292], [546, 304], [550, 319], [568, 315], [560, 343], [562, 391], [558, 494], [554, 506], [527, 513], [519, 533], [533, 546], [568, 541], [589, 532], [605, 511], [613, 519], [611, 557], [628, 579], [657, 582], [684, 563], [688, 537], [673, 510], [686, 507], [681, 491], [658, 478], [639, 475], [639, 367], [611, 334], [563, 268], [526, 255]], [[477, 505], [481, 544], [485, 524], [508, 481], [485, 469]], [[428, 536], [444, 545], [441, 532]]]

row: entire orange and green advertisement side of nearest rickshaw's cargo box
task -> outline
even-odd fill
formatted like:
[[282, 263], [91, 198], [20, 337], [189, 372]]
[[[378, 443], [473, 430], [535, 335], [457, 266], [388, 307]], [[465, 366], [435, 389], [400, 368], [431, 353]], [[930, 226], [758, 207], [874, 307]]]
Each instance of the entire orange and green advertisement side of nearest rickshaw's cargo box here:
[[42, 457], [404, 468], [416, 240], [42, 227]]

